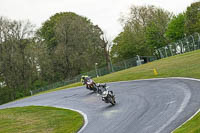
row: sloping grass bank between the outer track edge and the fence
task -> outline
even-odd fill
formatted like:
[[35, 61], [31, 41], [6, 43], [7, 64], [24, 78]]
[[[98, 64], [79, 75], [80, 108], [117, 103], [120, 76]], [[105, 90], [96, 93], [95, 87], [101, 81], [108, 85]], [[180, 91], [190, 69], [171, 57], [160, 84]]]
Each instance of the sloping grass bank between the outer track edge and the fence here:
[[[157, 70], [158, 75], [154, 75], [154, 68]], [[94, 78], [94, 80], [98, 83], [104, 83], [164, 77], [191, 77], [200, 79], [200, 50], [156, 60], [141, 66], [132, 67], [126, 70]], [[81, 85], [82, 84], [79, 82], [46, 92], [77, 87]]]

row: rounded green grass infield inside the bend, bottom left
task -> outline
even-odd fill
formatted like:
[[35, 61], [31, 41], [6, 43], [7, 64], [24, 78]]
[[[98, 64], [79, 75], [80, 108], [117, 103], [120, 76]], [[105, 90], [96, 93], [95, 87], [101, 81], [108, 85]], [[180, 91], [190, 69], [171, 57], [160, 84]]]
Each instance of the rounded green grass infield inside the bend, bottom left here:
[[83, 117], [54, 107], [27, 106], [0, 110], [0, 133], [75, 133]]

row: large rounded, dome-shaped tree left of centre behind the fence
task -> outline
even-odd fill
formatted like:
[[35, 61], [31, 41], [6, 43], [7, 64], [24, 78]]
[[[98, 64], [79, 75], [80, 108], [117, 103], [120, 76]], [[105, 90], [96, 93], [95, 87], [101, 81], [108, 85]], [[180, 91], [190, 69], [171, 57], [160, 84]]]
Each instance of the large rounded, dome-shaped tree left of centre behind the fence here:
[[85, 17], [57, 13], [43, 24], [38, 35], [47, 44], [55, 81], [94, 69], [96, 62], [105, 63], [103, 32]]

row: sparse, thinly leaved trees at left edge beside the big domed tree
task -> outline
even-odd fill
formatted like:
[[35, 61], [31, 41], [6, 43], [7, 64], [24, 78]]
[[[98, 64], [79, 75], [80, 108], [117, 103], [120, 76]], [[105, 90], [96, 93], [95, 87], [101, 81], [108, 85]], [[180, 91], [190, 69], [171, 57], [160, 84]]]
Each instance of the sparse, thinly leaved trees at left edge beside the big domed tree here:
[[[31, 54], [33, 26], [29, 22], [0, 17], [0, 74], [7, 99], [27, 95], [37, 78], [35, 57]], [[1, 90], [2, 91], [2, 90]], [[5, 93], [4, 93], [5, 94]]]

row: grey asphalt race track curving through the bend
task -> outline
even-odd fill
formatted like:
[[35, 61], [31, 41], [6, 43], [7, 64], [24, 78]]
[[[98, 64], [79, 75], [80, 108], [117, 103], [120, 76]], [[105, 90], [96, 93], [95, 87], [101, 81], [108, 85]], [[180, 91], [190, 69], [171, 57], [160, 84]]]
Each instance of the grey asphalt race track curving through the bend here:
[[40, 105], [81, 110], [87, 115], [83, 133], [170, 133], [200, 108], [199, 81], [157, 79], [107, 85], [116, 95], [115, 106], [85, 87], [76, 87], [28, 97], [0, 109]]

